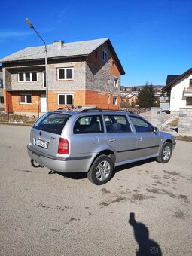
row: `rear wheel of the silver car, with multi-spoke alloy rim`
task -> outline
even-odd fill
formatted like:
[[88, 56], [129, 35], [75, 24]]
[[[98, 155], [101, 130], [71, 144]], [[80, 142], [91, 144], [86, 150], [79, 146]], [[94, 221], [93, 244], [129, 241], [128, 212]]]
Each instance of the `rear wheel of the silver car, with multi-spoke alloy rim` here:
[[105, 154], [100, 155], [93, 161], [89, 172], [87, 172], [87, 178], [96, 185], [102, 185], [107, 183], [113, 175], [114, 163], [111, 157]]

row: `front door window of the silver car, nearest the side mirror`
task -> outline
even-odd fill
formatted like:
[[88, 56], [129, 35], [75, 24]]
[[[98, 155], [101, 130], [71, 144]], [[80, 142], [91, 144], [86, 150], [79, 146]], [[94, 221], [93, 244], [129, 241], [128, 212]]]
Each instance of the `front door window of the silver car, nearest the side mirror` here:
[[154, 127], [151, 126], [151, 124], [149, 124], [140, 117], [130, 116], [130, 120], [135, 126], [137, 133], [151, 133], [154, 130]]

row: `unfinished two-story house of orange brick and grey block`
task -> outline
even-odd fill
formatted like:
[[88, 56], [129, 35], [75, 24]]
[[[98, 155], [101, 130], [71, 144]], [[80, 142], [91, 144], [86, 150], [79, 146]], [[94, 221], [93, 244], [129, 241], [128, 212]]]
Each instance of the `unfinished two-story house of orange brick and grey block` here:
[[[0, 59], [5, 111], [46, 111], [44, 47], [28, 47]], [[49, 111], [79, 105], [120, 108], [120, 75], [125, 74], [108, 38], [47, 45]]]

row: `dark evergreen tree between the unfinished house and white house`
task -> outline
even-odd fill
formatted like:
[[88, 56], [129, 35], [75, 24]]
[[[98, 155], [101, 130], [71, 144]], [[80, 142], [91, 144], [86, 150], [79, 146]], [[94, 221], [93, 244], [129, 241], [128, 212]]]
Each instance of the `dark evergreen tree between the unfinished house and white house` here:
[[154, 86], [153, 84], [145, 83], [145, 87], [143, 87], [139, 91], [137, 105], [140, 108], [151, 108], [155, 105], [155, 96], [154, 96]]

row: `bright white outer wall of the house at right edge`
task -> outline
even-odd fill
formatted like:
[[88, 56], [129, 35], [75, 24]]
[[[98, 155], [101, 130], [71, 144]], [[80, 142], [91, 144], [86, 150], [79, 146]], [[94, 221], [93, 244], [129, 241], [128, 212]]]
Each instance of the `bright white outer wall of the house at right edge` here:
[[192, 75], [187, 75], [172, 87], [170, 95], [170, 111], [179, 111], [179, 108], [186, 107], [186, 96], [184, 96], [183, 93], [184, 87], [189, 87], [190, 79], [192, 79]]

